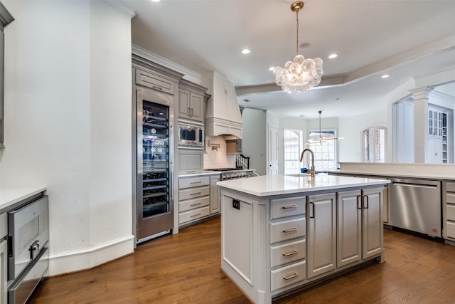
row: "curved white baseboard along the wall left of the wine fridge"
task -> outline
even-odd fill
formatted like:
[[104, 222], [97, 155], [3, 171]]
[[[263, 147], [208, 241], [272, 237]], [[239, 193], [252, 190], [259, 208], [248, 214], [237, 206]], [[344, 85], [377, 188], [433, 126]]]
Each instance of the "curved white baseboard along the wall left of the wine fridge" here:
[[49, 276], [82, 271], [134, 252], [134, 236], [125, 236], [82, 250], [49, 255]]

